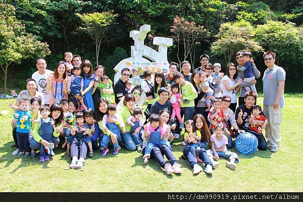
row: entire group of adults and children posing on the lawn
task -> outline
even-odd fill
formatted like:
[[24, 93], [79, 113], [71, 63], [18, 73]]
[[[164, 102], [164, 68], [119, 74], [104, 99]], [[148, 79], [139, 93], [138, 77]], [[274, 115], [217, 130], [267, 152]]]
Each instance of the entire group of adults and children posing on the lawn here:
[[55, 155], [62, 141], [71, 156], [70, 168], [80, 169], [94, 151], [106, 156], [113, 147], [113, 155], [118, 155], [123, 145], [142, 151], [144, 163], [156, 159], [170, 175], [182, 172], [171, 142], [180, 139], [184, 128], [182, 157], [193, 174], [203, 171], [201, 162], [212, 174], [220, 157], [234, 170], [239, 159], [228, 149], [240, 133], [254, 134], [259, 150], [270, 147], [276, 152], [280, 146], [285, 71], [275, 65], [275, 57], [273, 52], [263, 56], [263, 110], [256, 105], [255, 87], [261, 73], [248, 51], [235, 54], [238, 65], [230, 63], [226, 74], [219, 63], [212, 65], [209, 56], [202, 55], [201, 66], [192, 72], [188, 61], [181, 63], [180, 72], [177, 63], [170, 63], [167, 75], [145, 70], [140, 86], [132, 85], [130, 69], [124, 68], [114, 87], [103, 66], [93, 70], [79, 55], [66, 52], [66, 61], [54, 72], [38, 59], [27, 90], [19, 93], [15, 104], [9, 103], [15, 111], [13, 155], [34, 158], [40, 151], [42, 163]]

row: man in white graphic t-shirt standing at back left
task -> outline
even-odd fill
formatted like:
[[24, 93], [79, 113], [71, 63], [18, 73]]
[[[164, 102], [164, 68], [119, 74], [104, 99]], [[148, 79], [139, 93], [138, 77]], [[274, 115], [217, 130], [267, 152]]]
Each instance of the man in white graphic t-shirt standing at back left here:
[[44, 96], [44, 105], [49, 105], [49, 97], [51, 96], [51, 91], [46, 91], [47, 78], [51, 76], [54, 72], [46, 69], [46, 61], [39, 58], [36, 63], [38, 71], [32, 74], [32, 78], [38, 84], [38, 91]]

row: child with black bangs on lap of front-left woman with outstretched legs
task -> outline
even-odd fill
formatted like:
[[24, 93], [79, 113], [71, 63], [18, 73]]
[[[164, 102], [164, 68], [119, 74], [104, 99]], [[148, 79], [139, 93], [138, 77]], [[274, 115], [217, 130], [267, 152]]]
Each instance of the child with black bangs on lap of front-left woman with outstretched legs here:
[[[88, 148], [89, 148], [89, 154], [92, 152], [93, 156], [93, 150], [92, 150], [92, 145], [91, 145], [91, 140], [90, 140], [90, 129], [86, 123], [84, 123], [84, 115], [82, 112], [77, 112], [76, 115], [76, 125], [73, 127], [71, 130], [71, 135], [68, 138], [67, 145], [68, 148], [70, 148], [70, 144], [72, 143], [72, 140], [74, 138], [78, 139], [84, 139], [84, 141], [87, 143]], [[91, 157], [91, 155], [89, 155]], [[80, 160], [79, 160], [80, 161]]]

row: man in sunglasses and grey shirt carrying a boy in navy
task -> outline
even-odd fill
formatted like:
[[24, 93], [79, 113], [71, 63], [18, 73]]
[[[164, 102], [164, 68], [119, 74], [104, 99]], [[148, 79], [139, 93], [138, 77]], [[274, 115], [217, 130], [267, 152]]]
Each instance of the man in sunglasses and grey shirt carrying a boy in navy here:
[[[235, 58], [236, 58], [236, 61], [238, 63], [238, 66], [237, 66], [237, 69], [242, 67], [244, 65], [244, 58], [243, 58], [243, 55], [242, 55], [242, 52], [239, 51], [235, 54]], [[254, 60], [252, 60], [251, 58], [251, 66], [252, 66], [252, 71], [254, 71], [254, 75], [255, 75], [255, 78], [259, 78], [261, 76], [261, 72], [257, 69], [255, 63], [254, 63]], [[243, 80], [244, 79], [244, 71], [238, 71], [238, 76]], [[257, 80], [254, 80], [254, 81], [251, 81], [251, 84], [256, 84], [257, 83]], [[239, 87], [239, 106], [244, 104], [244, 96], [245, 96], [245, 93], [246, 93], [246, 90], [244, 87], [247, 87], [249, 86], [250, 84], [240, 84]]]

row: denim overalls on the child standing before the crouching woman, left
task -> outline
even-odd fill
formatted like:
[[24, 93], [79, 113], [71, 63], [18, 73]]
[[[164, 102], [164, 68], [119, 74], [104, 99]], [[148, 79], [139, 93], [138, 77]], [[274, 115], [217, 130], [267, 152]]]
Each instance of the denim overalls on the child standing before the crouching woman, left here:
[[[52, 126], [52, 118], [48, 118], [48, 122], [45, 122], [43, 118], [41, 118], [41, 126], [39, 135], [49, 143], [52, 143], [52, 137], [53, 137], [53, 126]], [[48, 156], [48, 154], [45, 153], [45, 147], [43, 144], [41, 144], [40, 147], [40, 157]]]

